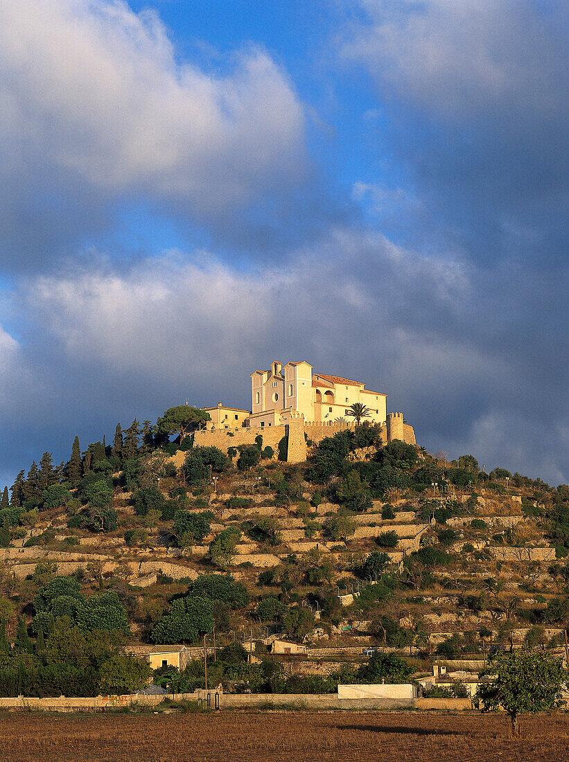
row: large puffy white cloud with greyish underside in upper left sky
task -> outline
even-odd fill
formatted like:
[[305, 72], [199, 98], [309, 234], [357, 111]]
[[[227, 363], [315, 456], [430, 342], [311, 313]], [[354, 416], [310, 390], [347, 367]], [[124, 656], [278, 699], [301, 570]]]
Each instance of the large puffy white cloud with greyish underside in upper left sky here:
[[56, 172], [207, 216], [303, 163], [303, 109], [265, 51], [223, 75], [180, 65], [158, 16], [122, 0], [0, 2], [0, 103], [4, 171], [43, 175], [39, 195]]

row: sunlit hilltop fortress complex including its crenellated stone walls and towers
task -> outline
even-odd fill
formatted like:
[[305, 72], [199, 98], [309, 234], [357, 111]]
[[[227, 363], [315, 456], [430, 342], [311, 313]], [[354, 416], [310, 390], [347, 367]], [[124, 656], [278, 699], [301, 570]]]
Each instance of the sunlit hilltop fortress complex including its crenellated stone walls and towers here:
[[[355, 428], [346, 421], [351, 405], [361, 402], [369, 410], [363, 420], [378, 424], [384, 442], [399, 439], [415, 444], [413, 427], [403, 422], [403, 413], [387, 413], [387, 395], [371, 392], [365, 384], [342, 376], [313, 373], [310, 363], [272, 363], [271, 370], [251, 375], [251, 410], [217, 403], [204, 408], [211, 421], [196, 431], [195, 443], [202, 447], [254, 444], [262, 435], [263, 447], [275, 453], [281, 440], [287, 443], [288, 463], [307, 459], [307, 442], [317, 443], [336, 431]], [[281, 446], [282, 447], [282, 446]]]

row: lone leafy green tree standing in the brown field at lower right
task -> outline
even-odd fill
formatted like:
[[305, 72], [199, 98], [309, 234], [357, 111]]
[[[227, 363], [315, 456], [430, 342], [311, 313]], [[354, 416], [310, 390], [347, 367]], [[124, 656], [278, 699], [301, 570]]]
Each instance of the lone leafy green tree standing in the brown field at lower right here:
[[493, 655], [486, 674], [493, 680], [478, 686], [477, 704], [482, 712], [503, 708], [510, 715], [512, 735], [520, 735], [518, 715], [522, 712], [535, 714], [561, 706], [561, 691], [569, 680], [561, 658], [521, 651]]

